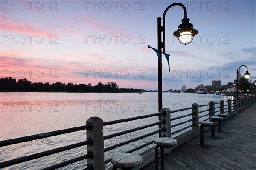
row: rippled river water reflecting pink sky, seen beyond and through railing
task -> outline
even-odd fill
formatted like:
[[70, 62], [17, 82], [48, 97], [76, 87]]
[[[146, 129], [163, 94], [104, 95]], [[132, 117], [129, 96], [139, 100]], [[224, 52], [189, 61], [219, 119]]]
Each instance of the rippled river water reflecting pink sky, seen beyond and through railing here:
[[[230, 96], [213, 94], [187, 94], [187, 93], [163, 93], [163, 108], [177, 110], [191, 107], [193, 103], [198, 105], [208, 104], [210, 101], [219, 102], [233, 99]], [[0, 93], [0, 140], [14, 139], [38, 133], [83, 126], [87, 119], [98, 116], [103, 122], [117, 119], [125, 119], [134, 116], [142, 116], [157, 113], [157, 93], [39, 93], [39, 92], [11, 92]], [[207, 109], [201, 108], [201, 109]], [[189, 112], [191, 112], [189, 110]], [[180, 116], [172, 113], [172, 116]], [[126, 122], [104, 127], [104, 136], [130, 128], [140, 127], [157, 122], [157, 117], [134, 122]], [[191, 118], [190, 118], [191, 119]], [[139, 135], [157, 130], [157, 126], [140, 130], [133, 134], [127, 134], [104, 141], [104, 147], [118, 144]], [[174, 129], [175, 130], [175, 129]], [[172, 130], [173, 131], [173, 130]], [[147, 139], [125, 145], [105, 153], [105, 160], [111, 158], [114, 153], [125, 152], [145, 142], [153, 140], [157, 135]], [[174, 136], [172, 136], [174, 137]], [[86, 130], [39, 139], [21, 144], [1, 147], [0, 161], [15, 159], [33, 153], [51, 150], [57, 147], [67, 146], [86, 140]], [[150, 145], [145, 149], [153, 147]], [[143, 150], [138, 150], [141, 153]], [[4, 170], [41, 169], [53, 164], [67, 161], [86, 154], [86, 146], [64, 151], [51, 156], [35, 159], [29, 162], [3, 168]], [[84, 169], [86, 160], [60, 169]], [[110, 164], [106, 165], [106, 168]]]

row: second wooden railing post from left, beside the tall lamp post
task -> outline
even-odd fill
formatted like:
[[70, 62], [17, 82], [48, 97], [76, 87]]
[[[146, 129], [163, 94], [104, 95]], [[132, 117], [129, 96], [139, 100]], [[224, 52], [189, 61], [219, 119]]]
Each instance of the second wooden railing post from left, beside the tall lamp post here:
[[169, 108], [163, 108], [161, 109], [161, 113], [165, 112], [165, 115], [161, 115], [161, 121], [164, 119], [166, 120], [165, 124], [162, 124], [161, 127], [165, 127], [166, 131], [165, 132], [161, 132], [161, 137], [171, 137], [171, 111]]

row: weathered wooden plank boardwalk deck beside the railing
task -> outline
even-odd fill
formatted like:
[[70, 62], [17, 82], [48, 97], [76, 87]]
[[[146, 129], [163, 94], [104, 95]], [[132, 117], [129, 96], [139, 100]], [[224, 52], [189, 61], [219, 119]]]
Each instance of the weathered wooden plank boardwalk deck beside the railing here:
[[[205, 131], [164, 157], [165, 170], [256, 170], [256, 102], [215, 126], [215, 137]], [[141, 170], [154, 170], [154, 161]]]

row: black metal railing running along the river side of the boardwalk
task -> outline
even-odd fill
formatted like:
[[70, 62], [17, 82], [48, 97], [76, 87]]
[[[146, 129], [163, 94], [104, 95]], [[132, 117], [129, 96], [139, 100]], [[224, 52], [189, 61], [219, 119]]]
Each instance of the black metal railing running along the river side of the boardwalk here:
[[[98, 164], [103, 164], [103, 166], [104, 166], [104, 164], [108, 164], [109, 162], [111, 162], [111, 158], [104, 160], [104, 162], [94, 161], [94, 163], [91, 163], [88, 160], [94, 160], [94, 159], [96, 159], [97, 156], [102, 156], [102, 154], [104, 157], [104, 153], [106, 153], [110, 150], [114, 150], [116, 148], [122, 147], [127, 144], [131, 144], [132, 142], [136, 142], [136, 141], [139, 141], [144, 138], [148, 138], [149, 136], [153, 136], [157, 133], [163, 137], [165, 137], [165, 136], [168, 137], [169, 135], [176, 135], [175, 138], [177, 138], [177, 139], [182, 138], [181, 137], [182, 135], [177, 136], [177, 133], [181, 133], [183, 130], [186, 130], [186, 133], [190, 133], [190, 131], [191, 131], [191, 133], [192, 132], [194, 133], [195, 131], [197, 131], [197, 133], [195, 133], [195, 135], [197, 135], [198, 127], [199, 127], [197, 122], [199, 121], [199, 119], [204, 119], [204, 117], [208, 116], [207, 119], [204, 119], [204, 120], [209, 120], [211, 116], [215, 116], [215, 113], [227, 113], [228, 116], [232, 116], [234, 113], [237, 113], [242, 108], [247, 107], [248, 105], [250, 105], [252, 102], [255, 102], [255, 101], [256, 101], [256, 96], [250, 96], [250, 97], [241, 98], [241, 99], [233, 99], [233, 100], [229, 99], [228, 101], [221, 100], [220, 102], [216, 102], [216, 103], [209, 102], [209, 104], [199, 105], [199, 106], [197, 104], [193, 104], [192, 107], [178, 109], [175, 111], [170, 111], [169, 109], [166, 108], [167, 110], [163, 110], [160, 113], [154, 113], [154, 114], [149, 114], [149, 115], [145, 115], [145, 116], [136, 116], [136, 117], [127, 118], [127, 119], [114, 120], [114, 121], [110, 121], [110, 122], [102, 122], [102, 125], [100, 125], [102, 127], [99, 128], [99, 132], [103, 130], [103, 126], [115, 125], [118, 123], [130, 122], [130, 121], [135, 121], [135, 120], [139, 120], [139, 119], [147, 119], [147, 118], [151, 118], [154, 116], [161, 117], [161, 120], [158, 122], [149, 123], [149, 124], [146, 124], [143, 126], [139, 125], [138, 127], [124, 130], [124, 131], [121, 131], [118, 133], [113, 133], [113, 134], [103, 136], [103, 132], [102, 132], [102, 139], [99, 139], [99, 141], [96, 141], [95, 139], [93, 140], [87, 136], [87, 140], [83, 141], [83, 142], [79, 142], [76, 144], [70, 144], [70, 145], [67, 145], [64, 147], [59, 147], [59, 148], [55, 148], [52, 150], [47, 150], [44, 152], [35, 153], [35, 154], [23, 156], [23, 157], [8, 160], [8, 161], [3, 161], [3, 162], [0, 162], [0, 168], [9, 167], [9, 166], [12, 166], [15, 164], [20, 164], [22, 162], [42, 158], [42, 157], [49, 156], [49, 155], [52, 155], [55, 153], [60, 153], [60, 152], [66, 151], [66, 150], [71, 150], [71, 149], [74, 149], [77, 147], [87, 146], [87, 154], [78, 156], [76, 158], [73, 158], [73, 159], [70, 159], [67, 161], [63, 161], [61, 163], [58, 163], [58, 164], [55, 164], [55, 165], [52, 165], [52, 166], [49, 166], [46, 168], [43, 168], [42, 170], [54, 170], [54, 169], [64, 167], [69, 164], [73, 164], [75, 162], [84, 160], [84, 159], [87, 159], [87, 162], [88, 162], [87, 167], [84, 168], [84, 170], [96, 170], [97, 167], [99, 167]], [[198, 108], [202, 109], [203, 107], [206, 107], [206, 109], [198, 111]], [[177, 112], [183, 113], [182, 111], [187, 111], [187, 110], [191, 110], [191, 113], [188, 113], [188, 114], [185, 114], [182, 116], [176, 116], [177, 114], [171, 114], [171, 113], [177, 113]], [[203, 113], [203, 115], [202, 115], [202, 113]], [[200, 114], [200, 116], [199, 116], [199, 114]], [[174, 115], [175, 115], [175, 117], [174, 117]], [[190, 118], [188, 118], [188, 117], [190, 117]], [[179, 121], [179, 122], [177, 122], [177, 121]], [[187, 125], [189, 122], [190, 122], [190, 125]], [[171, 125], [171, 123], [174, 123], [174, 124]], [[149, 127], [156, 126], [156, 128], [158, 128], [158, 125], [160, 125], [160, 127], [161, 127], [158, 130], [152, 130], [151, 132], [148, 132], [146, 134], [143, 133], [143, 135], [137, 135], [133, 139], [127, 140], [125, 142], [121, 142], [119, 144], [114, 144], [112, 146], [105, 147], [102, 150], [99, 150], [100, 152], [102, 152], [102, 154], [99, 154], [99, 153], [95, 154], [95, 153], [93, 153], [92, 150], [88, 150], [88, 147], [93, 148], [93, 147], [99, 146], [96, 144], [97, 142], [100, 142], [100, 141], [103, 142], [104, 140], [115, 138], [117, 136], [134, 133], [134, 132], [137, 132], [138, 130], [145, 130]], [[178, 127], [180, 127], [180, 128], [177, 129]], [[175, 128], [175, 131], [171, 132], [171, 128]], [[98, 127], [96, 127], [96, 129], [98, 129]], [[100, 130], [100, 129], [102, 129], [102, 130]], [[52, 132], [47, 132], [47, 133], [40, 133], [40, 134], [36, 134], [36, 135], [32, 135], [32, 136], [20, 137], [17, 139], [9, 139], [9, 140], [5, 140], [5, 141], [0, 141], [0, 147], [5, 147], [5, 146], [12, 145], [12, 144], [18, 144], [18, 143], [23, 143], [23, 142], [29, 142], [29, 141], [37, 140], [37, 139], [48, 138], [51, 136], [57, 136], [57, 135], [62, 135], [62, 134], [66, 134], [66, 133], [73, 133], [73, 132], [81, 131], [81, 130], [87, 130], [87, 132], [91, 132], [91, 131], [94, 132], [95, 126], [93, 126], [91, 123], [88, 123], [85, 126], [73, 127], [73, 128], [69, 128], [69, 129], [57, 130], [57, 131], [52, 131]], [[185, 142], [183, 140], [180, 140], [180, 141]], [[153, 144], [153, 140], [149, 140], [137, 147], [130, 148], [129, 150], [125, 150], [123, 152], [132, 153], [137, 150], [143, 149], [151, 144]], [[58, 158], [56, 158], [56, 159], [58, 159]], [[97, 159], [97, 160], [99, 160], [99, 159]]]

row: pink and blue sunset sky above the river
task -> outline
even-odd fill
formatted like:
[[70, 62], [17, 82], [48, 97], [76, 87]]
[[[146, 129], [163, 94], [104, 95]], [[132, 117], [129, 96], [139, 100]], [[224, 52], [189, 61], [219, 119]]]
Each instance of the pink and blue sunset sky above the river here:
[[[221, 85], [247, 65], [256, 77], [256, 1], [0, 1], [2, 77], [31, 82], [116, 82], [119, 88], [157, 89], [157, 17], [183, 3], [199, 31], [192, 43], [172, 35], [184, 17], [166, 14], [163, 90]], [[244, 74], [245, 67], [241, 67]], [[254, 80], [254, 79], [253, 79]]]

